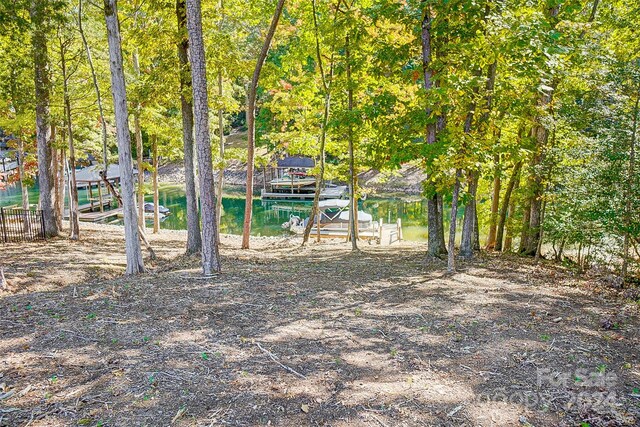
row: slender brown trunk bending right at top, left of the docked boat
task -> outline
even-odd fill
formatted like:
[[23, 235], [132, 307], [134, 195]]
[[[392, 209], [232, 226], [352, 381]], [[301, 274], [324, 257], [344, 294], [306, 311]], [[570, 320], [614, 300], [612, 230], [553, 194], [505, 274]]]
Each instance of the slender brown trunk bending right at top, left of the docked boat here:
[[244, 208], [244, 225], [242, 228], [242, 249], [249, 249], [249, 239], [251, 236], [251, 216], [253, 214], [253, 167], [255, 156], [255, 134], [256, 134], [256, 97], [258, 91], [258, 81], [260, 79], [260, 72], [264, 61], [267, 59], [267, 54], [271, 47], [271, 41], [276, 33], [278, 27], [278, 21], [282, 16], [282, 9], [284, 8], [285, 0], [278, 0], [276, 10], [273, 13], [271, 25], [269, 31], [262, 45], [260, 56], [256, 62], [256, 68], [253, 71], [253, 77], [247, 90], [247, 193], [246, 202]]

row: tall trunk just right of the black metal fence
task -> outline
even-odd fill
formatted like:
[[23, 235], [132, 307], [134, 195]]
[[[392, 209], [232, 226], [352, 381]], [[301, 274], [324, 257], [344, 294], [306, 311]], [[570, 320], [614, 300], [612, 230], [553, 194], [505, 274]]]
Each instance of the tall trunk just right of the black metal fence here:
[[40, 191], [40, 209], [44, 218], [44, 232], [47, 237], [57, 236], [57, 212], [53, 206], [53, 171], [51, 170], [51, 117], [49, 115], [49, 56], [47, 53], [47, 17], [46, 2], [31, 0], [31, 22], [33, 49], [35, 106], [36, 106], [36, 142], [38, 152], [38, 186]]

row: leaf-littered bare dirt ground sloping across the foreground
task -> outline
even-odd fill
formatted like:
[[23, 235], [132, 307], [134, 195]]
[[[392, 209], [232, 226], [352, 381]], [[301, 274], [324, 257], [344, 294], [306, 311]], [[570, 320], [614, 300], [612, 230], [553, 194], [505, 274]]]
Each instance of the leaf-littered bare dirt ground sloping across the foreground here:
[[0, 247], [1, 426], [640, 425], [638, 304], [598, 277], [225, 236], [203, 279], [163, 232], [126, 278], [83, 233]]

